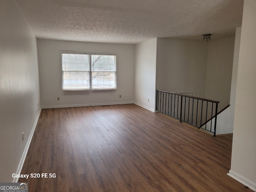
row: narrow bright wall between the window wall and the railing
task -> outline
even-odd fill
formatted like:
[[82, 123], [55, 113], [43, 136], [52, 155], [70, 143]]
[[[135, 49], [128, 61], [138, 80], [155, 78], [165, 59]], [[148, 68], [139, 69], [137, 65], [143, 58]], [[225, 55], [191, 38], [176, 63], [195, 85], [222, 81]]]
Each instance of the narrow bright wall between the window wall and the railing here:
[[135, 103], [151, 111], [155, 110], [156, 43], [154, 38], [136, 44]]

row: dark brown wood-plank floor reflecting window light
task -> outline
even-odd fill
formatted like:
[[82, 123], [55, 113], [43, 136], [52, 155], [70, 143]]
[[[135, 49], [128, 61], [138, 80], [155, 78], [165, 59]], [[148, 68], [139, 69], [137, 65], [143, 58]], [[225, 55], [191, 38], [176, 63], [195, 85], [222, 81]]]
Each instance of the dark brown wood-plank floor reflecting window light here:
[[19, 182], [30, 192], [252, 192], [227, 175], [231, 148], [232, 135], [135, 104], [42, 109], [22, 169], [40, 177]]

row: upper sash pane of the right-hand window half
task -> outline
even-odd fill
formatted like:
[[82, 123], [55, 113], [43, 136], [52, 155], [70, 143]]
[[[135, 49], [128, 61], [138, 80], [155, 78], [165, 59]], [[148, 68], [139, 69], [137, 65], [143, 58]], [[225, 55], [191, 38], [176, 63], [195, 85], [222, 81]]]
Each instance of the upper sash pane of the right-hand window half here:
[[92, 55], [92, 71], [116, 71], [116, 56]]

